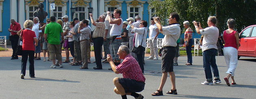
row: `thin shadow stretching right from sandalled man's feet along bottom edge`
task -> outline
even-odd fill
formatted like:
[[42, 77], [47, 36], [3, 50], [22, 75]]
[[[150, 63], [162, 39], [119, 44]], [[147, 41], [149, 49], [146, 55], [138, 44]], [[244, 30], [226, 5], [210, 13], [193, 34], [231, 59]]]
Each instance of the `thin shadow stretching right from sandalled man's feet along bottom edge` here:
[[[165, 95], [165, 96], [169, 96], [169, 95]], [[242, 99], [242, 98], [207, 97], [207, 96], [194, 96], [194, 95], [171, 95], [171, 97], [186, 97], [186, 98], [197, 98], [197, 99]]]

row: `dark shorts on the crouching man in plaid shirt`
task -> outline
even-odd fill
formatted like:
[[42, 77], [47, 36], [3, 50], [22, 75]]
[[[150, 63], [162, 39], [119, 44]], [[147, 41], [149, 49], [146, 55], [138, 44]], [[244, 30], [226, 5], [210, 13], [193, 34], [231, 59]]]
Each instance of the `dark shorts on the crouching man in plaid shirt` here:
[[118, 78], [118, 81], [124, 87], [126, 93], [141, 92], [144, 90], [144, 82], [137, 82], [130, 78]]

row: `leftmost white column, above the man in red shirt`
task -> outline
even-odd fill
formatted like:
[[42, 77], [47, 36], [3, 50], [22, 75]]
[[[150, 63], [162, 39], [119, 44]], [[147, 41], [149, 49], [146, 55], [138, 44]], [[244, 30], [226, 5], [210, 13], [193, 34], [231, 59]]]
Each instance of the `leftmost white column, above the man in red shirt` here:
[[11, 0], [10, 8], [11, 8], [11, 19], [15, 19], [15, 21], [17, 21], [17, 0]]

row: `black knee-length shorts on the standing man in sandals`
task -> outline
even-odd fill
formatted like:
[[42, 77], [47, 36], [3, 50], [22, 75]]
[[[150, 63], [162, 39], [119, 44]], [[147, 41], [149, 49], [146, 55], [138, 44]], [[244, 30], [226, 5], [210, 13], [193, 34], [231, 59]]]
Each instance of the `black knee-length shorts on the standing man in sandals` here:
[[162, 51], [162, 72], [174, 72], [174, 57], [176, 56], [176, 47], [164, 47]]

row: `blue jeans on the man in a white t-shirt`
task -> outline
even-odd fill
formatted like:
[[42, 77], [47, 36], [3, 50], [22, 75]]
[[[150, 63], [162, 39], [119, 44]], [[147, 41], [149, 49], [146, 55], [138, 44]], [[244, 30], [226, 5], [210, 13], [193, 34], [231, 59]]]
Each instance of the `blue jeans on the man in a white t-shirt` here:
[[[214, 76], [214, 79], [219, 78], [219, 70], [216, 65], [216, 59], [215, 59], [216, 53], [217, 53], [217, 49], [215, 48], [211, 48], [203, 52], [203, 64], [204, 64], [203, 67], [204, 67], [205, 77], [207, 81], [212, 81], [213, 76]], [[213, 70], [211, 70], [211, 68]], [[213, 75], [211, 71], [213, 71]]]

